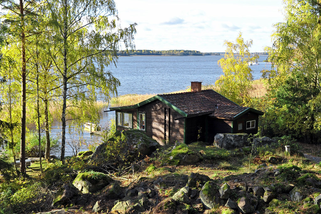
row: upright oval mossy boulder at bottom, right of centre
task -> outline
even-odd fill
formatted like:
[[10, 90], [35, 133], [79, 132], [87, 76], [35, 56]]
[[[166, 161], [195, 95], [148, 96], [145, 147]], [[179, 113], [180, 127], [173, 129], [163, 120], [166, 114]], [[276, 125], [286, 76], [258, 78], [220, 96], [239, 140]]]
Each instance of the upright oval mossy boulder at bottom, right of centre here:
[[200, 191], [200, 198], [205, 209], [212, 209], [219, 204], [219, 189], [220, 187], [213, 181], [207, 181], [204, 184], [202, 190]]

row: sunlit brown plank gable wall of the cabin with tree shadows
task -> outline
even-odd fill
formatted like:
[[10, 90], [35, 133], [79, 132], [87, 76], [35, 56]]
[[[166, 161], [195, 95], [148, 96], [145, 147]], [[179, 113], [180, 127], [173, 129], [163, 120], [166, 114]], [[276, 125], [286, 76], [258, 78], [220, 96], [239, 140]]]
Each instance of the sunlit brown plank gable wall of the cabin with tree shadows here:
[[[174, 109], [159, 100], [155, 100], [143, 107], [138, 107], [138, 112], [146, 113], [146, 134], [148, 136], [151, 136], [159, 143], [164, 143], [164, 133], [166, 130], [166, 142], [184, 142], [184, 119], [175, 120], [183, 116]], [[165, 119], [166, 129], [164, 126]]]

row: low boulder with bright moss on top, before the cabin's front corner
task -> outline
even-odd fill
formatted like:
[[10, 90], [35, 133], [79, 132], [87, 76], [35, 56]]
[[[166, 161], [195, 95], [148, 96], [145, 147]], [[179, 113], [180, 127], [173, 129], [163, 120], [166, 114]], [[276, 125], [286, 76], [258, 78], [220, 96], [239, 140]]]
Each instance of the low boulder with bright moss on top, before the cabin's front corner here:
[[203, 156], [187, 144], [179, 144], [168, 153], [162, 162], [170, 165], [193, 164], [203, 160]]

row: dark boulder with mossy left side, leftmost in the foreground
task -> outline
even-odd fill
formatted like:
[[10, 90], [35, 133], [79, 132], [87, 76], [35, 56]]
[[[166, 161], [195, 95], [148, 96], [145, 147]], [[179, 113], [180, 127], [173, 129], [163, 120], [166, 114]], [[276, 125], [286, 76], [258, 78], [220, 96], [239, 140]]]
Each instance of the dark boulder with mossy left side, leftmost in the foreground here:
[[79, 195], [79, 190], [72, 183], [65, 183], [55, 194], [51, 206], [66, 205]]

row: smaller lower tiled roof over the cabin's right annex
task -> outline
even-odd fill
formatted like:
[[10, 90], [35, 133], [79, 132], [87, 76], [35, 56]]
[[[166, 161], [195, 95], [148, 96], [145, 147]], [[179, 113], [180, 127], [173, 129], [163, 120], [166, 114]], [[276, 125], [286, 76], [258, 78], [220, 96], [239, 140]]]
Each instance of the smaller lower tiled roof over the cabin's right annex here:
[[248, 108], [249, 107], [241, 107], [237, 105], [218, 104], [217, 109], [215, 109], [215, 112], [210, 114], [209, 116], [233, 119], [234, 116], [237, 116], [239, 113], [245, 111]]

